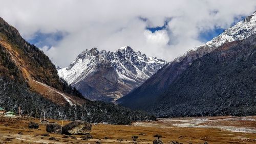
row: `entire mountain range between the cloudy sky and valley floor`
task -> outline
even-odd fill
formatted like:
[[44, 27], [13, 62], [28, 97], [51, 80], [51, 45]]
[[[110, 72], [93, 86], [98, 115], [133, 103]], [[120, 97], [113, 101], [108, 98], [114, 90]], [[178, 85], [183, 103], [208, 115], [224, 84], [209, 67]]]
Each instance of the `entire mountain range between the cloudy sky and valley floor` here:
[[0, 105], [111, 124], [154, 115], [255, 115], [255, 39], [256, 12], [169, 63], [124, 46], [85, 50], [60, 68], [0, 18]]

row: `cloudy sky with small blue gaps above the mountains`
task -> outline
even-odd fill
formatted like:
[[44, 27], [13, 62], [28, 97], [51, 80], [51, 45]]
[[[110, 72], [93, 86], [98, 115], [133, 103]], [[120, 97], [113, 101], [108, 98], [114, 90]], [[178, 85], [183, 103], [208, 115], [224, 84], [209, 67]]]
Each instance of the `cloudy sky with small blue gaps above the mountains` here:
[[0, 16], [65, 67], [83, 50], [125, 45], [171, 61], [255, 10], [255, 0], [17, 0], [2, 1]]

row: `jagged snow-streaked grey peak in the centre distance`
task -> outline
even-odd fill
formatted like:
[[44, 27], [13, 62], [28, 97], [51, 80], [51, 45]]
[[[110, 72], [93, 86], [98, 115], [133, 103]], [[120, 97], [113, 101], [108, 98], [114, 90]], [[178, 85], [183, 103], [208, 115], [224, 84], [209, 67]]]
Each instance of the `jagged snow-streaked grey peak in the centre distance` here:
[[115, 52], [93, 48], [83, 51], [58, 74], [84, 97], [111, 102], [138, 87], [165, 64], [166, 61], [141, 55], [130, 46]]

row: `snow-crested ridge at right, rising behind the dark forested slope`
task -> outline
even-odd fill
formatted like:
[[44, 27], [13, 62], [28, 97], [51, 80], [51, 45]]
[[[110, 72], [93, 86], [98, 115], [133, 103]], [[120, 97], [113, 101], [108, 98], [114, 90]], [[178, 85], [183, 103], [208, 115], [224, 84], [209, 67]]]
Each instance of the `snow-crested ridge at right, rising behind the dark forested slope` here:
[[165, 65], [155, 75], [147, 79], [141, 86], [125, 95], [125, 97], [119, 99], [118, 103], [134, 109], [149, 109], [150, 105], [157, 100], [158, 96], [164, 92], [167, 87], [193, 63], [194, 60], [214, 51], [218, 46], [226, 42], [242, 40], [255, 34], [255, 21], [256, 12], [225, 30], [218, 37], [195, 47], [195, 49], [186, 52], [168, 65]]

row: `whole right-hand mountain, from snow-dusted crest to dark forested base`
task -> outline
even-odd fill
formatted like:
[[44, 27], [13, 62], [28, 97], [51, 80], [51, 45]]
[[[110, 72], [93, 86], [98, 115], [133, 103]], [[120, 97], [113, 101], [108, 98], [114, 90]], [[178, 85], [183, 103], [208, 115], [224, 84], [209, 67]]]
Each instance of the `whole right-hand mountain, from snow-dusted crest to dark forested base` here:
[[157, 116], [255, 114], [256, 12], [163, 66], [117, 102]]

